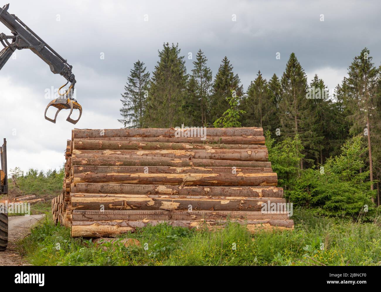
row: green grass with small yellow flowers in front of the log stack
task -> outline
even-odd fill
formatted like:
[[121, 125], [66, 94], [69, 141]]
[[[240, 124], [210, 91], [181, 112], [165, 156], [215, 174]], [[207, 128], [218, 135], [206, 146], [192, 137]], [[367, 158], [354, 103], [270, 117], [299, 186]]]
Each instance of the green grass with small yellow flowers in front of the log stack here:
[[18, 245], [32, 265], [381, 265], [379, 225], [306, 211], [294, 220], [294, 231], [256, 234], [234, 221], [216, 231], [147, 226], [122, 236], [141, 247], [106, 243], [105, 251], [46, 218]]

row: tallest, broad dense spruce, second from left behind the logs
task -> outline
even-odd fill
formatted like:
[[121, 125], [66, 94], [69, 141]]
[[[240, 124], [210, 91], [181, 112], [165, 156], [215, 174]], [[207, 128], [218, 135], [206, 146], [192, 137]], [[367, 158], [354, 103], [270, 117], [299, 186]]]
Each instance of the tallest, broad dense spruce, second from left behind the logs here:
[[178, 44], [163, 44], [152, 73], [144, 121], [148, 127], [176, 127], [184, 123], [187, 79], [184, 56]]

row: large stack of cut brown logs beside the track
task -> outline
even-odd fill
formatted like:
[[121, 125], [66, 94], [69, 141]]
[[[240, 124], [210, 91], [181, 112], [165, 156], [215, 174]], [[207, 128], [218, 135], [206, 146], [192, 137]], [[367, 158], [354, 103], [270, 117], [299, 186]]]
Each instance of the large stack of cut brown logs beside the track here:
[[[179, 134], [180, 132], [180, 134]], [[293, 229], [264, 146], [262, 128], [72, 130], [55, 223], [72, 237], [104, 237], [163, 221], [218, 228], [227, 220], [257, 229]]]

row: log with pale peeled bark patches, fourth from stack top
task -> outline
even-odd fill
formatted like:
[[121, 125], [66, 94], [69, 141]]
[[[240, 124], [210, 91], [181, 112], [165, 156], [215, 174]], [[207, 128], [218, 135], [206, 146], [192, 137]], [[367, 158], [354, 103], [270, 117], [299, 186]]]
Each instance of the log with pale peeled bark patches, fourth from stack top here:
[[267, 149], [185, 149], [185, 150], [78, 150], [73, 154], [131, 155], [194, 159], [219, 159], [240, 161], [267, 161]]

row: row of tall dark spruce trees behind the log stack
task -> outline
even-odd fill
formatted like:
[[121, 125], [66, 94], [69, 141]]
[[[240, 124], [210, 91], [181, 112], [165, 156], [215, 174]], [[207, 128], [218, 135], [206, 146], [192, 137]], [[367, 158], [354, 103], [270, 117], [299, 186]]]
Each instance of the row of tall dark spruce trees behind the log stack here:
[[[369, 187], [379, 197], [381, 66], [367, 48], [336, 88], [327, 88], [316, 74], [307, 80], [295, 53], [282, 76], [266, 80], [258, 71], [247, 88], [226, 56], [214, 77], [201, 50], [189, 73], [178, 44], [163, 44], [158, 57], [152, 74], [142, 61], [133, 64], [121, 99], [123, 127], [263, 127], [274, 143], [300, 141], [298, 177], [300, 170], [332, 164], [330, 157], [342, 156], [343, 145], [359, 136], [361, 147], [349, 147], [361, 151], [357, 173], [374, 182]], [[354, 162], [348, 163], [353, 170]]]

